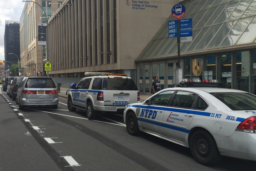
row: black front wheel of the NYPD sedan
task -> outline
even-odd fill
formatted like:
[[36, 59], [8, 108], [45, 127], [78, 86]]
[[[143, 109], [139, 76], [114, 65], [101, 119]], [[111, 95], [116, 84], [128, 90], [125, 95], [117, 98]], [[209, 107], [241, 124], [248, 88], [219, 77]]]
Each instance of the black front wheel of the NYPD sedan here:
[[126, 129], [130, 135], [138, 135], [140, 131], [137, 118], [133, 112], [127, 114]]

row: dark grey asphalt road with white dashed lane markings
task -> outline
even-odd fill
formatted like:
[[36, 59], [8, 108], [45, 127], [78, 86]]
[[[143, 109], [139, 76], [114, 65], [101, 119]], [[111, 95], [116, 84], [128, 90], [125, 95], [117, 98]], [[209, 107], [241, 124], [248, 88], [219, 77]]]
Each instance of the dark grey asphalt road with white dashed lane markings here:
[[223, 157], [217, 166], [198, 164], [189, 148], [141, 132], [127, 133], [123, 116], [88, 120], [67, 109], [18, 110], [0, 91], [0, 171], [234, 171], [254, 170], [255, 161]]

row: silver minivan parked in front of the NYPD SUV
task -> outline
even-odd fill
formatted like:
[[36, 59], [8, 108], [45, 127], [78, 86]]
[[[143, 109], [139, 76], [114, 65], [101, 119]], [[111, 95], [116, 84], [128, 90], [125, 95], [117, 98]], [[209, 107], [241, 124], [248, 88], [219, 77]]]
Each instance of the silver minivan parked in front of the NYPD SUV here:
[[18, 87], [17, 101], [19, 110], [24, 107], [50, 106], [58, 108], [58, 90], [52, 78], [49, 77], [24, 77]]

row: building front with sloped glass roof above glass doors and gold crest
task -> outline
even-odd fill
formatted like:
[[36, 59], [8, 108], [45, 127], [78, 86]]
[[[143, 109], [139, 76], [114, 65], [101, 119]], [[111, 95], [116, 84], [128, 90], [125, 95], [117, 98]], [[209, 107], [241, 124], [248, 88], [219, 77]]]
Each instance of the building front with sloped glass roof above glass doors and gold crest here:
[[[185, 0], [192, 18], [193, 41], [180, 43], [182, 77], [215, 80], [222, 87], [256, 94], [256, 0]], [[165, 21], [135, 60], [141, 94], [150, 94], [154, 76], [172, 87], [178, 68], [177, 38], [168, 37]]]

